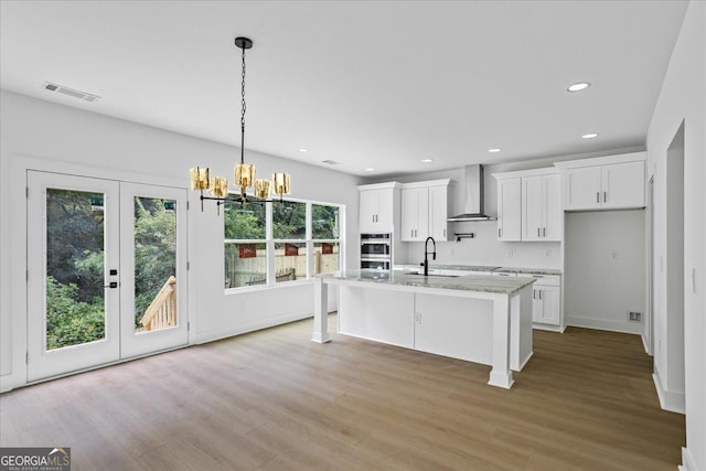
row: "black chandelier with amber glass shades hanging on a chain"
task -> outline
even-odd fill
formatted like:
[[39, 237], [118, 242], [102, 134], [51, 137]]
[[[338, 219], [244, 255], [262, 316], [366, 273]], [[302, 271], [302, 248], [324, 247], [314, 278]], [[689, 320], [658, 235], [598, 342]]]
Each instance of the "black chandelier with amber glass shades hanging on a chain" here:
[[[237, 195], [228, 195], [228, 180], [223, 176], [212, 176], [208, 168], [195, 167], [191, 169], [191, 189], [201, 192], [201, 211], [204, 200], [216, 201], [216, 207], [228, 203], [271, 203], [270, 194], [274, 192], [282, 196], [290, 192], [289, 173], [275, 173], [272, 179], [256, 179], [255, 165], [245, 163], [245, 50], [253, 47], [253, 41], [248, 38], [236, 38], [235, 45], [242, 50], [242, 82], [240, 82], [240, 163], [235, 165], [235, 185], [239, 186]], [[254, 194], [248, 195], [247, 189], [254, 188]], [[207, 190], [211, 196], [204, 196]]]

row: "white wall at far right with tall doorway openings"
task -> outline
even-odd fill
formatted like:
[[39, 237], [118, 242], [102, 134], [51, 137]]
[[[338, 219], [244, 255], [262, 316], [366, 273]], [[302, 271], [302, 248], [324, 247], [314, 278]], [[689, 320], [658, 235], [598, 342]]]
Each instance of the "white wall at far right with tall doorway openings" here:
[[[706, 2], [689, 2], [648, 131], [648, 179], [654, 175], [655, 372], [666, 373], [666, 156], [684, 121], [684, 469], [706, 469]], [[695, 274], [695, 279], [693, 276]], [[660, 345], [662, 345], [660, 347]], [[678, 366], [677, 366], [678, 367]], [[656, 378], [662, 399], [670, 390]], [[664, 404], [664, 402], [663, 402]]]

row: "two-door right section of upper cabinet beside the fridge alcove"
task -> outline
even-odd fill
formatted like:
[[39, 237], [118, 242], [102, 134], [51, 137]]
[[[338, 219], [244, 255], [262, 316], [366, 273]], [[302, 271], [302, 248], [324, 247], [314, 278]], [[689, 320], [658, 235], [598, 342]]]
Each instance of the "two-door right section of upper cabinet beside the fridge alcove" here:
[[561, 240], [561, 175], [522, 179], [522, 239]]

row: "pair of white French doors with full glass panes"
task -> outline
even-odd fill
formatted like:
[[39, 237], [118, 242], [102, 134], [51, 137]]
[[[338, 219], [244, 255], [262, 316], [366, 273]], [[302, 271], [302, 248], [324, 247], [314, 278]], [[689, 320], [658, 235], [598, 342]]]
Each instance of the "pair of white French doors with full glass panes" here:
[[185, 192], [28, 172], [28, 381], [188, 343]]

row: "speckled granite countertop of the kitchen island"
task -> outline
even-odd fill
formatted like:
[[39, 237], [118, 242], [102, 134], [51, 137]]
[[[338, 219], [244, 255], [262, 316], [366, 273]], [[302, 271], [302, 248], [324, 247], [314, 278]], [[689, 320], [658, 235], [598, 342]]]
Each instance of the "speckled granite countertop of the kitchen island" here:
[[421, 288], [495, 292], [502, 295], [512, 295], [535, 281], [534, 278], [488, 277], [483, 275], [429, 275], [425, 277], [424, 275], [411, 271], [375, 269], [335, 271], [332, 274], [317, 275], [317, 277], [321, 277], [324, 282], [327, 282], [327, 279], [333, 279]]

